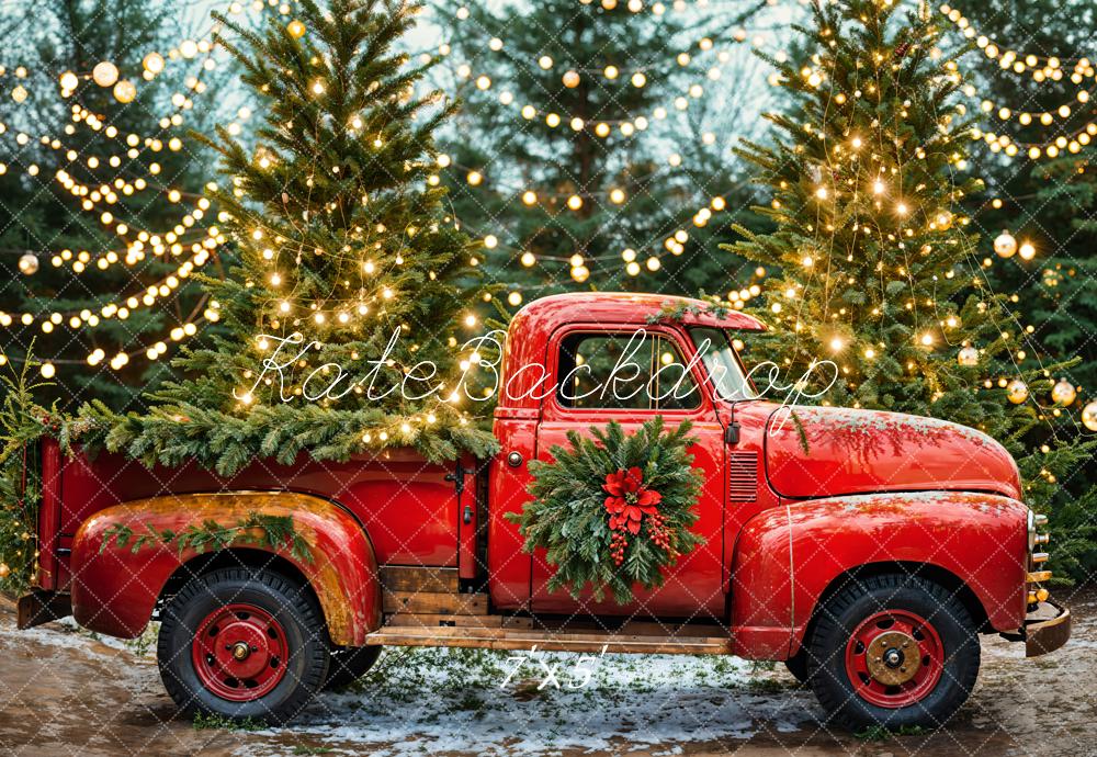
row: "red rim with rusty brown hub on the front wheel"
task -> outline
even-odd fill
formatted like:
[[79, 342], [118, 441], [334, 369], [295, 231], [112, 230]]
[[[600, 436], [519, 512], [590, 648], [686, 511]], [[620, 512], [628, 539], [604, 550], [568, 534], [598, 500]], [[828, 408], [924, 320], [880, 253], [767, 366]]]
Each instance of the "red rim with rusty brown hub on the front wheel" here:
[[846, 644], [846, 674], [858, 697], [898, 709], [925, 699], [941, 679], [945, 646], [937, 630], [907, 610], [863, 620]]

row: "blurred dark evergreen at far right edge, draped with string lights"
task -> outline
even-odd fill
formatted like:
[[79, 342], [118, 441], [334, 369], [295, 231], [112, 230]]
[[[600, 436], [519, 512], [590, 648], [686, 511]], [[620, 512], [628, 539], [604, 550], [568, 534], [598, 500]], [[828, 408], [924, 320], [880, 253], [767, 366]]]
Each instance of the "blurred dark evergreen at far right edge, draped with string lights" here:
[[[1062, 374], [1078, 391], [1077, 399], [1061, 408], [1055, 432], [1084, 440], [1097, 431], [1097, 405], [1092, 405], [1097, 399], [1092, 166], [1097, 126], [1086, 104], [1094, 64], [1076, 50], [1093, 38], [1097, 14], [1088, 5], [1061, 11], [1061, 3], [1048, 0], [1004, 0], [994, 12], [966, 3], [937, 9], [953, 47], [974, 42], [979, 48], [965, 59], [964, 90], [981, 113], [972, 155], [987, 191], [966, 207], [983, 237], [987, 278], [995, 291], [1010, 293], [1032, 339], [1053, 355], [1081, 359]], [[1039, 363], [1030, 354], [1021, 365]], [[1077, 554], [1072, 572], [1092, 578], [1097, 572], [1092, 476], [1079, 465], [1058, 476], [1058, 484], [1056, 564], [1065, 543]]]

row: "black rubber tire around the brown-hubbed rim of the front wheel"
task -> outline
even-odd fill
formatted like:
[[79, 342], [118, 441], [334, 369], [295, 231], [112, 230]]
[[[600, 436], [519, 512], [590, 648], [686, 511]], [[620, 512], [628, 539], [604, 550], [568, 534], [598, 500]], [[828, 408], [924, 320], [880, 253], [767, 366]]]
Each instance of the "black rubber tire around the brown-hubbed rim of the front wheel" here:
[[[887, 611], [896, 611], [924, 619], [926, 625], [931, 628], [919, 628], [914, 639], [928, 639], [930, 632], [937, 634], [938, 648], [941, 649], [938, 662], [926, 664], [923, 660], [931, 657], [921, 657], [917, 667], [925, 666], [927, 671], [936, 667], [940, 675], [936, 683], [934, 678], [927, 680], [926, 686], [931, 688], [917, 699], [903, 689], [917, 681], [884, 686], [879, 678], [870, 681], [861, 673], [857, 674], [859, 685], [855, 686], [851, 680], [851, 671], [847, 669], [847, 644], [850, 645], [849, 654], [855, 658], [862, 651], [860, 654], [868, 659], [863, 645], [853, 636], [864, 628], [869, 629], [868, 633], [880, 633], [874, 630], [877, 628], [886, 631], [886, 619], [863, 625], [882, 611], [884, 615]], [[880, 641], [884, 646], [885, 640]], [[915, 642], [916, 647], [921, 644]], [[819, 609], [806, 648], [808, 679], [829, 722], [855, 731], [872, 725], [893, 730], [903, 726], [938, 727], [966, 701], [979, 675], [979, 634], [971, 613], [953, 592], [917, 576], [883, 575], [855, 580]], [[875, 664], [879, 669], [880, 658]], [[907, 668], [901, 669], [906, 671]], [[870, 683], [878, 690], [883, 689], [883, 696], [892, 698], [889, 707], [866, 699], [869, 694], [862, 692], [868, 690]], [[900, 705], [900, 702], [903, 704]]]

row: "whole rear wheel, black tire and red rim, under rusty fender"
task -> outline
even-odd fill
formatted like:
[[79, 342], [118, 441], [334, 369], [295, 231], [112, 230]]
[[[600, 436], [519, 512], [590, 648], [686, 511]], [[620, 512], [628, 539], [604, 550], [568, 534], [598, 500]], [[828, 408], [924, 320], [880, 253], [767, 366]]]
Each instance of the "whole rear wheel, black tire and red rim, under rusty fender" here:
[[320, 690], [327, 631], [306, 587], [270, 570], [223, 568], [165, 608], [157, 659], [183, 711], [283, 723]]

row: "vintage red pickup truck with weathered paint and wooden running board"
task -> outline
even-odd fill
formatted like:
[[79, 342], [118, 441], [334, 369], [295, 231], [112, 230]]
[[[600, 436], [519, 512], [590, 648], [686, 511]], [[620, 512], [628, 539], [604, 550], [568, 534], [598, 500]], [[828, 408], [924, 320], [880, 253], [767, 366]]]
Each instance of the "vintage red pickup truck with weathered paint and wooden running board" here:
[[[1029, 656], [1062, 646], [1071, 617], [1041, 586], [1044, 519], [1022, 502], [1009, 454], [929, 418], [796, 407], [789, 421], [736, 349], [762, 329], [656, 295], [533, 302], [506, 341], [490, 460], [394, 450], [256, 460], [218, 477], [65, 456], [47, 440], [41, 567], [21, 625], [71, 612], [133, 637], [159, 620], [161, 675], [181, 708], [268, 721], [362, 675], [383, 646], [536, 645], [784, 660], [833, 722], [936, 725], [975, 682], [980, 634], [1022, 641]], [[561, 389], [558, 377], [623, 380], [612, 372], [629, 340], [632, 378], [677, 364], [691, 391]], [[523, 552], [506, 518], [530, 499], [528, 463], [568, 431], [656, 415], [693, 422], [704, 483], [691, 528], [704, 544], [629, 605], [550, 591], [553, 566]], [[313, 558], [256, 539], [182, 552], [111, 539], [246, 513], [291, 517]]]

